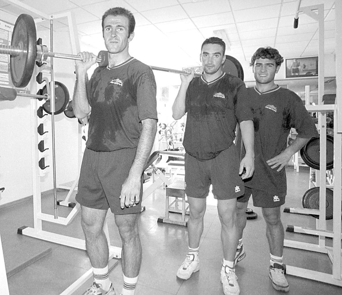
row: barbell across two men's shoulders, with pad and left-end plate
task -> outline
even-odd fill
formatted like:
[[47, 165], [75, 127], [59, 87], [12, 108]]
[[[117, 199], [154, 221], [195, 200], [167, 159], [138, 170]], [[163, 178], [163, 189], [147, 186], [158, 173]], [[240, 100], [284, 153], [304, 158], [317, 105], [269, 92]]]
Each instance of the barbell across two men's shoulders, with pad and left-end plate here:
[[[15, 87], [23, 88], [29, 83], [35, 62], [44, 62], [48, 57], [82, 60], [79, 55], [49, 52], [45, 45], [37, 45], [37, 31], [34, 19], [29, 14], [18, 16], [12, 33], [11, 45], [0, 44], [0, 54], [9, 54], [11, 78]], [[108, 65], [108, 52], [100, 51], [96, 62], [99, 66]], [[150, 66], [154, 70], [185, 74], [185, 71]], [[201, 74], [195, 73], [199, 77]]]

